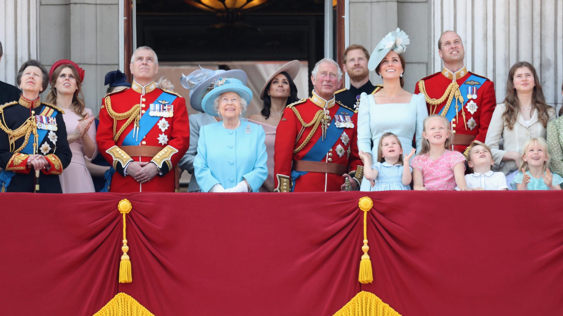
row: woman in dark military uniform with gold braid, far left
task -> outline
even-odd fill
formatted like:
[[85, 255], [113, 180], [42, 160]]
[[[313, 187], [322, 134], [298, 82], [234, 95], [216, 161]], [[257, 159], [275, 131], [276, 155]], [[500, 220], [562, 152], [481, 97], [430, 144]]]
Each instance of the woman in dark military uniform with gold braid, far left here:
[[19, 100], [0, 106], [0, 187], [2, 192], [61, 193], [59, 175], [72, 153], [63, 111], [42, 103], [47, 70], [28, 60], [17, 73]]

